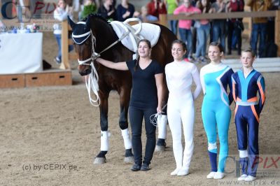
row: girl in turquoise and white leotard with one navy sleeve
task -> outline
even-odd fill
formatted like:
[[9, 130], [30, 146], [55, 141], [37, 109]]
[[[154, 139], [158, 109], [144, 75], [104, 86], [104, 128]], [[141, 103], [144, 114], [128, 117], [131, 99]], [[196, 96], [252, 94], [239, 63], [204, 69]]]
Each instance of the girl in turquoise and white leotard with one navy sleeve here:
[[[227, 93], [231, 87], [232, 69], [221, 62], [223, 47], [213, 42], [208, 51], [211, 63], [203, 66], [200, 80], [204, 99], [202, 103], [202, 121], [208, 139], [208, 153], [211, 163], [211, 173], [207, 178], [222, 179], [225, 176], [225, 160], [228, 156], [228, 128], [230, 125], [230, 103], [232, 94]], [[217, 167], [216, 129], [220, 141], [220, 154]]]

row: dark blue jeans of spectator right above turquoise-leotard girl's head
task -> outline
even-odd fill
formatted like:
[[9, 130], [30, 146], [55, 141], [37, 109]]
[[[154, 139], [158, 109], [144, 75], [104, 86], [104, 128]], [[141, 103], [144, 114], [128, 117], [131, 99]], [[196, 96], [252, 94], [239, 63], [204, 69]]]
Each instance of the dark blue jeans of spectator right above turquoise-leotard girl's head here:
[[225, 53], [225, 27], [226, 22], [213, 22], [213, 42], [218, 42], [220, 39], [220, 43], [223, 46], [223, 50]]

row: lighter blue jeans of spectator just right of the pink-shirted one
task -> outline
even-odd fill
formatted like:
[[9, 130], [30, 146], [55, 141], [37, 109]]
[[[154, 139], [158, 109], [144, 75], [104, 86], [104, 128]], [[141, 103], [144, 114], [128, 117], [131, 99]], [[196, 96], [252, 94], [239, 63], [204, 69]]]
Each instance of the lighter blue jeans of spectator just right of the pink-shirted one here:
[[210, 33], [210, 23], [200, 24], [200, 27], [197, 28], [197, 50], [195, 52], [195, 57], [205, 57], [206, 55], [206, 45], [207, 38]]

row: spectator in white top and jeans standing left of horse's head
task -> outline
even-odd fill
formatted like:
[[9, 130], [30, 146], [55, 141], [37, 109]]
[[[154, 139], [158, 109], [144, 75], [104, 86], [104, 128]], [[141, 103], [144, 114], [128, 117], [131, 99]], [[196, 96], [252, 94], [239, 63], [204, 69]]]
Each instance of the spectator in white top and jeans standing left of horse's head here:
[[[59, 0], [57, 2], [57, 8], [55, 8], [55, 11], [53, 12], [53, 16], [55, 17], [55, 20], [59, 20], [60, 22], [67, 20], [67, 16], [73, 18], [72, 15], [72, 8], [68, 5], [66, 5], [66, 1]], [[55, 38], [57, 40], [58, 45], [58, 54], [57, 57], [55, 57], [55, 62], [57, 64], [61, 64], [62, 62], [62, 44], [61, 44], [61, 34], [62, 34], [62, 28], [59, 24], [53, 25], [53, 34], [55, 34]], [[69, 51], [73, 50], [73, 45], [69, 45]]]

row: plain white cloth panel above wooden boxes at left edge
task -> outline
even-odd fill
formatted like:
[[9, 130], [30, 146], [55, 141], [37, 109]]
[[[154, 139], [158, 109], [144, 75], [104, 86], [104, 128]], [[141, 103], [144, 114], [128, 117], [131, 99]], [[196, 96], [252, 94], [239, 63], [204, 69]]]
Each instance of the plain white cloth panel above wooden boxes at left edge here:
[[43, 71], [43, 34], [0, 34], [0, 74]]

